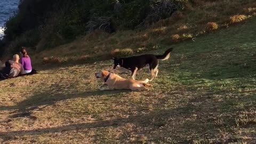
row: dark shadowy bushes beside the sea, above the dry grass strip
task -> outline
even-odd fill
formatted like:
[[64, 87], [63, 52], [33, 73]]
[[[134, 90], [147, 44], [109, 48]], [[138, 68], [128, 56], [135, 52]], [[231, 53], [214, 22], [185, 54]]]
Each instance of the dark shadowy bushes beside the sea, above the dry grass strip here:
[[185, 2], [186, 0], [24, 0], [20, 1], [17, 14], [6, 22], [4, 39], [7, 43], [21, 37], [20, 42], [14, 45], [14, 50], [20, 45], [36, 46], [42, 36], [46, 39], [45, 46], [53, 47], [95, 29], [113, 33], [116, 30], [151, 24], [170, 17], [174, 11], [182, 10]]

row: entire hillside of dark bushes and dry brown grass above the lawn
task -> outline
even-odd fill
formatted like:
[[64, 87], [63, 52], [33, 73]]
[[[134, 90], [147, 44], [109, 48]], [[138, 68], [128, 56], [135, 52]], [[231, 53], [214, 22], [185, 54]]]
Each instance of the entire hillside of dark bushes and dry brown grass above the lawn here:
[[[5, 46], [0, 49], [6, 56], [27, 46], [30, 52], [44, 51], [40, 56], [62, 58], [55, 61], [85, 59], [97, 50], [97, 56], [106, 59], [123, 50], [132, 54], [158, 49], [227, 28], [253, 17], [255, 7], [253, 0], [25, 0], [7, 21]], [[53, 47], [66, 43], [70, 44], [57, 48], [64, 53], [52, 53], [58, 51]], [[66, 52], [69, 58], [63, 58]]]

